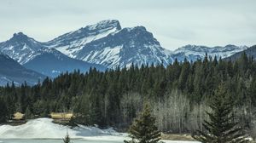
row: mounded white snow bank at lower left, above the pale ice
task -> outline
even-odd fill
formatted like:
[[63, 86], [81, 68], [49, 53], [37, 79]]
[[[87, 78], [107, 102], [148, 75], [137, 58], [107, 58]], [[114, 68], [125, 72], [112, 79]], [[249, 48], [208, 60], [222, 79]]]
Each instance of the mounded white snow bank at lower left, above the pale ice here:
[[72, 138], [91, 136], [125, 136], [113, 129], [98, 129], [96, 127], [79, 127], [70, 129], [67, 126], [52, 123], [50, 118], [38, 118], [28, 121], [20, 126], [1, 125], [0, 138], [2, 139], [61, 139], [67, 134]]

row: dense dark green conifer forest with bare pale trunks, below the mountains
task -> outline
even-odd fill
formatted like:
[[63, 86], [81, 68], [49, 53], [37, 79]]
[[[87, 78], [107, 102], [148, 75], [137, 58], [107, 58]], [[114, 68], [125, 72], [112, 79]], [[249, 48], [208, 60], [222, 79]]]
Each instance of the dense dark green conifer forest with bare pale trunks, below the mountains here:
[[236, 61], [206, 56], [195, 62], [175, 60], [166, 67], [133, 64], [106, 72], [62, 73], [32, 87], [9, 83], [0, 88], [0, 122], [15, 112], [26, 118], [73, 112], [73, 123], [127, 129], [147, 101], [160, 131], [191, 133], [203, 129], [219, 85], [234, 100], [234, 120], [254, 134], [256, 61], [246, 54]]

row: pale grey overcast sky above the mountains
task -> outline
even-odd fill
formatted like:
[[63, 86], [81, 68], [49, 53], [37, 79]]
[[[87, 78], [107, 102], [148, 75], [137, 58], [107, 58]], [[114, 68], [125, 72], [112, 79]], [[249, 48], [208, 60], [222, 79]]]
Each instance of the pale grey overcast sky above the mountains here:
[[1, 0], [0, 42], [46, 42], [100, 20], [145, 26], [166, 49], [256, 44], [256, 0]]

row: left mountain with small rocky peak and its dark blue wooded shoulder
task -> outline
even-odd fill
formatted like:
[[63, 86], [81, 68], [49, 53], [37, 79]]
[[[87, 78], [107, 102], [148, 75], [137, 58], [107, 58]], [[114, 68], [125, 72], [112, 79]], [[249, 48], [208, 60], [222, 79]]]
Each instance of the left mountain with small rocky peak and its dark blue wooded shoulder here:
[[26, 68], [49, 77], [56, 77], [61, 72], [73, 72], [77, 69], [87, 72], [90, 67], [96, 67], [100, 71], [106, 69], [104, 66], [70, 58], [56, 49], [45, 48], [44, 43], [27, 37], [21, 32], [15, 33], [14, 37], [8, 41], [0, 43], [0, 52], [8, 54]]

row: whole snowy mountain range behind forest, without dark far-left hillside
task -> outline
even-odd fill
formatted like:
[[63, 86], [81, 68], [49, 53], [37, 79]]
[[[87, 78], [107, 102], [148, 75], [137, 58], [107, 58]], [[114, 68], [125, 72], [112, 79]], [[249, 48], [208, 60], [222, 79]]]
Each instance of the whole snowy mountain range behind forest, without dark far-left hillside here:
[[9, 55], [27, 69], [56, 77], [61, 72], [91, 67], [104, 71], [108, 68], [146, 64], [167, 66], [175, 59], [195, 61], [209, 56], [227, 58], [248, 49], [247, 46], [227, 45], [206, 47], [186, 45], [170, 51], [160, 46], [153, 34], [143, 26], [122, 28], [118, 20], [102, 20], [77, 31], [71, 31], [46, 43], [15, 33], [0, 43], [0, 52]]

